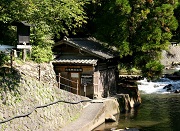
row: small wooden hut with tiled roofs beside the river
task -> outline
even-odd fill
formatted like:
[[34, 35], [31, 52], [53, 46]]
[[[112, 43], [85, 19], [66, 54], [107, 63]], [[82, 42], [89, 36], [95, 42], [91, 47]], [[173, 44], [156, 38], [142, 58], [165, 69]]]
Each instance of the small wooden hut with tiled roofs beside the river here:
[[[67, 38], [53, 47], [61, 89], [90, 98], [116, 93], [118, 53], [95, 38]], [[58, 76], [59, 75], [59, 76]]]

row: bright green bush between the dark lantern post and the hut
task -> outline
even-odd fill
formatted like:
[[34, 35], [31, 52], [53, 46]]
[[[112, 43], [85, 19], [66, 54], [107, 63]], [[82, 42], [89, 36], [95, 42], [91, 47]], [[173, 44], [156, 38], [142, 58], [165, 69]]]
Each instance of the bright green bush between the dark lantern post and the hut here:
[[35, 34], [31, 35], [31, 40], [33, 43], [31, 59], [38, 63], [49, 62], [52, 60], [52, 46], [54, 41], [52, 40], [53, 33], [50, 27], [44, 23], [39, 22], [34, 31]]

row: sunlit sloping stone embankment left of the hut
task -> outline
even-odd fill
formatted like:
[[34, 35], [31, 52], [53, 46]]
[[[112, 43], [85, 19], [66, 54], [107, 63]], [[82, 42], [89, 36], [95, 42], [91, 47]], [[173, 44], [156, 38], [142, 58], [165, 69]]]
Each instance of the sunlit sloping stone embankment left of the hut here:
[[[13, 64], [13, 72], [0, 77], [0, 129], [10, 130], [59, 130], [79, 117], [84, 104], [77, 102], [86, 97], [77, 96], [57, 88], [56, 76], [51, 64], [41, 64], [41, 81], [38, 66], [30, 62]], [[8, 68], [8, 67], [6, 67]], [[42, 108], [35, 107], [55, 104]], [[33, 111], [31, 114], [12, 119]]]

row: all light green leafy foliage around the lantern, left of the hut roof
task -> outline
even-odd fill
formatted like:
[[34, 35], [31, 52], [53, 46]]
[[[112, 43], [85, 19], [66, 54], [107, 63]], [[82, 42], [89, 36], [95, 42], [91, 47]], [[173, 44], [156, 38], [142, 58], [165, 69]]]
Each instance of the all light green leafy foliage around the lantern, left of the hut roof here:
[[37, 62], [47, 62], [52, 59], [51, 47], [54, 37], [60, 34], [76, 33], [76, 29], [86, 22], [83, 0], [1, 0], [0, 21], [3, 30], [0, 39], [3, 44], [16, 44], [16, 35], [8, 35], [16, 29], [11, 25], [13, 21], [27, 21], [33, 24], [31, 44], [33, 45], [32, 58]]

